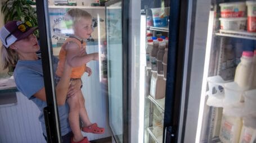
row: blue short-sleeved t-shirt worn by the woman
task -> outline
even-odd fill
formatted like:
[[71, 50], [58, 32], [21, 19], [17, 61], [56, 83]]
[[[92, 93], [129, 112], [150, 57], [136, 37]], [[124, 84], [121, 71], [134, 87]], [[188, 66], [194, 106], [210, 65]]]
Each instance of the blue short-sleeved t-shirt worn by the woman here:
[[[14, 79], [17, 89], [29, 100], [32, 100], [41, 111], [39, 121], [42, 124], [44, 135], [47, 135], [43, 116], [43, 108], [47, 106], [47, 103], [33, 96], [44, 87], [42, 60], [18, 61], [14, 70]], [[69, 106], [65, 103], [65, 105], [58, 106], [58, 110], [61, 135], [64, 136], [66, 133], [71, 131], [68, 121]]]

